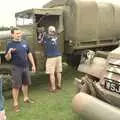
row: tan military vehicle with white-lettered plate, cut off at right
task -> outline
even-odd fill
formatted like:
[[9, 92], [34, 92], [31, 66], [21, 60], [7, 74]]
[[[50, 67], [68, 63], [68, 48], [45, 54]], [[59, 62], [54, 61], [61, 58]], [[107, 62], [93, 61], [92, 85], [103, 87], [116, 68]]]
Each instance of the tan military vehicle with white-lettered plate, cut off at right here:
[[78, 94], [73, 99], [74, 110], [85, 120], [118, 120], [120, 47], [106, 54], [106, 58], [99, 54], [91, 63], [90, 59], [85, 61], [79, 65], [78, 71], [84, 74], [75, 80]]

